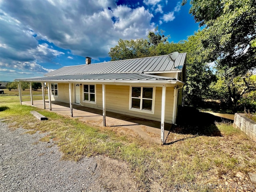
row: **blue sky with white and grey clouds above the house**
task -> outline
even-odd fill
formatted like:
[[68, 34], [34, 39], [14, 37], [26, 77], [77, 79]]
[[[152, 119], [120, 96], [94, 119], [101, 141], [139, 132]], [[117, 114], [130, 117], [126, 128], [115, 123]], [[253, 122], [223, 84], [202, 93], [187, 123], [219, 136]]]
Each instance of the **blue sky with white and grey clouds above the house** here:
[[156, 26], [169, 42], [198, 30], [181, 0], [0, 0], [0, 81], [43, 76], [62, 66], [109, 61], [118, 40]]

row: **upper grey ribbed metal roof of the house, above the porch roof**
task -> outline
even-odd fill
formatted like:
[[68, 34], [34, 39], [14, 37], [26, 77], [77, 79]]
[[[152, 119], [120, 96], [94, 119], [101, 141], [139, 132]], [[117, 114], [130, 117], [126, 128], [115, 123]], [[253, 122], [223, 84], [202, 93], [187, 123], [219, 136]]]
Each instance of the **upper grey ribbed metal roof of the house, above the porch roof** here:
[[[142, 73], [166, 72], [182, 70], [186, 61], [186, 53], [180, 53], [174, 62], [168, 60], [167, 55], [65, 66], [45, 74], [45, 76], [79, 75], [79, 74], [116, 74], [116, 73]], [[130, 76], [131, 74], [129, 74]], [[71, 77], [70, 77], [71, 78]]]

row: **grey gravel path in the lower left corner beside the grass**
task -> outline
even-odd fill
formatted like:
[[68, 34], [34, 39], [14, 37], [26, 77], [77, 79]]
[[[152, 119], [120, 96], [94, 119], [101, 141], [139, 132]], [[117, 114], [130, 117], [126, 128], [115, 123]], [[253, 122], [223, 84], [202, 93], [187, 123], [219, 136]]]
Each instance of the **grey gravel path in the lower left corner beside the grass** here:
[[44, 134], [26, 131], [10, 130], [0, 121], [0, 191], [104, 191], [94, 186], [99, 176], [94, 158], [61, 160], [56, 145], [39, 141]]

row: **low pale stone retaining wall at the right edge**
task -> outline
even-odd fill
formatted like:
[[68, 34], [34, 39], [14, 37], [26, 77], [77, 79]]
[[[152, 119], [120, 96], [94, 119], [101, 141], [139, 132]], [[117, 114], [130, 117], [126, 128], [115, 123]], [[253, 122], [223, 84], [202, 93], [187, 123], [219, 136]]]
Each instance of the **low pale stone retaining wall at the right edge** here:
[[256, 141], [256, 122], [246, 117], [244, 113], [235, 114], [233, 127], [239, 128], [252, 140]]

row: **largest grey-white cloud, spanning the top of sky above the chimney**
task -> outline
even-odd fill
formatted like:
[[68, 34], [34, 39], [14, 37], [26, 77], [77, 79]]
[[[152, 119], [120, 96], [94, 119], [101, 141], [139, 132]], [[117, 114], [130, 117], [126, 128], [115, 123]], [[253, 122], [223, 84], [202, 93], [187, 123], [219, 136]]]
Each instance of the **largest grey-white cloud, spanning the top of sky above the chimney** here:
[[114, 0], [12, 0], [2, 2], [1, 8], [31, 28], [36, 38], [93, 58], [106, 57], [119, 38], [146, 37], [155, 27], [150, 23], [153, 15], [143, 6], [131, 9]]

